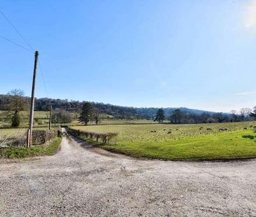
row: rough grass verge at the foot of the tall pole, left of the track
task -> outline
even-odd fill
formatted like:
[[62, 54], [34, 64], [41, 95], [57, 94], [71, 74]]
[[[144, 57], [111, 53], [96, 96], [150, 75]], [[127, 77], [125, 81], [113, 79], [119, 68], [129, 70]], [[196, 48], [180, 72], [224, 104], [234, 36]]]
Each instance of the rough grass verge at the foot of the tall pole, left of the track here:
[[50, 156], [56, 154], [59, 145], [62, 142], [61, 137], [52, 140], [50, 144], [34, 145], [31, 148], [11, 147], [0, 149], [0, 158], [28, 158], [34, 156]]

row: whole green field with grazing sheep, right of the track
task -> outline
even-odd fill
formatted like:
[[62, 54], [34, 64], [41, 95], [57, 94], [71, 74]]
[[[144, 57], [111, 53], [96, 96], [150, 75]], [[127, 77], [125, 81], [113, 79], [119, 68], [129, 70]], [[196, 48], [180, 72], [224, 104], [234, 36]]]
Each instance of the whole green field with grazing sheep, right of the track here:
[[[220, 160], [256, 157], [256, 135], [250, 126], [256, 122], [225, 124], [138, 124], [73, 126], [95, 133], [118, 133], [112, 144], [103, 149], [135, 157], [166, 160]], [[200, 127], [203, 127], [201, 130]], [[211, 128], [211, 130], [206, 130]], [[227, 128], [221, 131], [220, 128]], [[248, 128], [248, 129], [244, 129]], [[171, 129], [171, 130], [170, 130]], [[152, 133], [151, 131], [156, 131]], [[167, 133], [171, 131], [171, 133]]]

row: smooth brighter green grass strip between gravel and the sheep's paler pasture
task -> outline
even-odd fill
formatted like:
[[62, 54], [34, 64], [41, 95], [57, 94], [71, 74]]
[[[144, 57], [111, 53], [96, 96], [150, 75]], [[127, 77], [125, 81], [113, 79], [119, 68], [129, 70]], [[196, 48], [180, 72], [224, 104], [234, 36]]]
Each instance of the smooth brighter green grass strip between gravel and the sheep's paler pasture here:
[[[244, 131], [204, 135], [161, 142], [129, 142], [98, 144], [107, 151], [136, 158], [162, 160], [234, 160], [256, 158], [256, 139], [244, 137]], [[90, 143], [83, 137], [80, 139]]]

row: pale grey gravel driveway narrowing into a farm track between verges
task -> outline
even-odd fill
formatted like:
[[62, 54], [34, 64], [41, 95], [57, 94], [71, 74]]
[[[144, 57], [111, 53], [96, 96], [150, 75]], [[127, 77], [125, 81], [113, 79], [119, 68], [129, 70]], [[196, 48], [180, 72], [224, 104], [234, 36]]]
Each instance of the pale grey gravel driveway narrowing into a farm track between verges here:
[[136, 160], [62, 140], [0, 161], [0, 216], [256, 216], [256, 160]]

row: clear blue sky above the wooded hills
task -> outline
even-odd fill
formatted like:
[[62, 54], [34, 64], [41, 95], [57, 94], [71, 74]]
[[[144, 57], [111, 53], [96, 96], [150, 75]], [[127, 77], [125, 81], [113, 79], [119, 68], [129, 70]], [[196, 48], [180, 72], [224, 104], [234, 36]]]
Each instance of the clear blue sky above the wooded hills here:
[[[256, 105], [256, 1], [0, 1], [39, 51], [36, 97], [229, 112]], [[0, 15], [0, 35], [28, 47]], [[34, 54], [0, 38], [0, 93]]]

